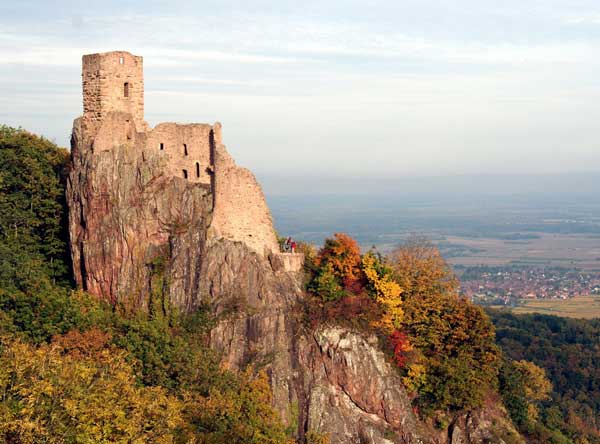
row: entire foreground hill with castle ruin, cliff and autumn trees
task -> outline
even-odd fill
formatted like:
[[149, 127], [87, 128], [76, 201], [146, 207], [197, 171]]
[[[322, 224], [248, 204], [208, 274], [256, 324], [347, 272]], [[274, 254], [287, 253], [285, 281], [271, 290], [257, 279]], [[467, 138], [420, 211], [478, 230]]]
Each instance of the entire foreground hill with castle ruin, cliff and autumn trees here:
[[144, 122], [141, 57], [84, 56], [83, 97], [71, 156], [2, 131], [5, 439], [542, 436], [544, 371], [503, 356], [432, 245], [283, 253], [220, 124]]

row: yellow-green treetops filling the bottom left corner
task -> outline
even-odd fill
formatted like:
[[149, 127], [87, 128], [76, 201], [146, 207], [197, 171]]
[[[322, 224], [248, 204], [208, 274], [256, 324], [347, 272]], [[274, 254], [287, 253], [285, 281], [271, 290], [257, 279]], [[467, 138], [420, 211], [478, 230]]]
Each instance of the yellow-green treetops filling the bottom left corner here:
[[58, 345], [19, 341], [0, 353], [0, 439], [21, 443], [170, 443], [182, 404], [160, 387], [139, 387], [125, 354], [73, 357]]

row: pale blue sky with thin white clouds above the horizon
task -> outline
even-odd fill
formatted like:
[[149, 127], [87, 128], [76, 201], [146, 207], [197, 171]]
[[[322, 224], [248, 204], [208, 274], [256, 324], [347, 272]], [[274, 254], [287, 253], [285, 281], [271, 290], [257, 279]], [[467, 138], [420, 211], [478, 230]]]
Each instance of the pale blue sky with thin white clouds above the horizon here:
[[600, 172], [600, 1], [0, 2], [0, 122], [68, 146], [81, 56], [259, 175]]

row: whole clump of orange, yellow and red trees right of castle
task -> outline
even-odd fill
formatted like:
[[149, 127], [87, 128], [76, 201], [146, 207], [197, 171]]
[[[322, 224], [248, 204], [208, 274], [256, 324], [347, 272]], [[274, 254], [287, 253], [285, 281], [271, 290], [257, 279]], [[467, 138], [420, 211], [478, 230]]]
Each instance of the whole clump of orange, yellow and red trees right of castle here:
[[[388, 257], [361, 257], [353, 239], [336, 234], [307, 268], [312, 322], [351, 319], [377, 333], [422, 416], [443, 426], [497, 392], [502, 356], [492, 323], [458, 296], [456, 278], [427, 241], [411, 239]], [[527, 366], [545, 380], [543, 370]]]

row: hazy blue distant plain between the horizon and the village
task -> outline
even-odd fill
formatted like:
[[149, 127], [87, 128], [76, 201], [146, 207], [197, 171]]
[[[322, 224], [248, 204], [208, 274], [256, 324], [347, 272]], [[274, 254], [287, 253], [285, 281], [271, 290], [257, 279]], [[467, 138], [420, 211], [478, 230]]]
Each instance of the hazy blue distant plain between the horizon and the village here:
[[600, 271], [600, 174], [284, 183], [265, 187], [278, 232], [317, 246], [341, 231], [385, 253], [416, 234], [453, 265]]

